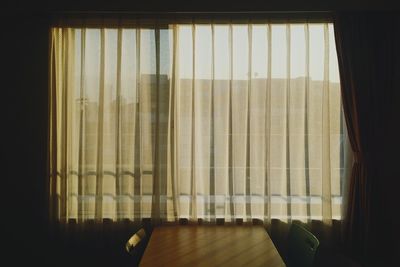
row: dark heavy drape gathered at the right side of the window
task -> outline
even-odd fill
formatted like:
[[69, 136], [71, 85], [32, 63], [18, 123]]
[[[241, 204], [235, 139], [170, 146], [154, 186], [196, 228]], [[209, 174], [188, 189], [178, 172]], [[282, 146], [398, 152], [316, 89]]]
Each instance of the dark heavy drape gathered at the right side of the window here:
[[[334, 19], [343, 109], [354, 163], [344, 241], [365, 266], [400, 252], [396, 163], [400, 135], [400, 13], [341, 13]], [[385, 265], [379, 265], [385, 266]]]

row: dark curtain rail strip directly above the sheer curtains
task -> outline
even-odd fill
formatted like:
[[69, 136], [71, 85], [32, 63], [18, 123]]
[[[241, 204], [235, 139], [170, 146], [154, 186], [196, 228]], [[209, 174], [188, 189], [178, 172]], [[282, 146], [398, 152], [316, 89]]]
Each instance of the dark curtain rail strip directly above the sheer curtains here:
[[129, 26], [169, 23], [304, 23], [331, 22], [331, 11], [62, 11], [51, 12], [57, 26]]

